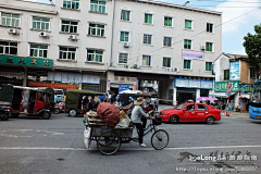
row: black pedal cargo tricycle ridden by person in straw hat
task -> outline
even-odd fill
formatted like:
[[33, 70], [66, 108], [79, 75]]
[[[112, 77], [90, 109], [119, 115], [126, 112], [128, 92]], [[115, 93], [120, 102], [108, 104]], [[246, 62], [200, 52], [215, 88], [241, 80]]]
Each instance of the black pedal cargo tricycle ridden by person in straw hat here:
[[[151, 114], [158, 114], [151, 112]], [[169, 134], [164, 129], [159, 129], [157, 125], [162, 122], [159, 120], [150, 120], [145, 133], [144, 138], [146, 138], [150, 133], [151, 146], [157, 150], [164, 149], [169, 144]], [[122, 144], [138, 141], [138, 136], [133, 137], [133, 132], [136, 129], [133, 126], [128, 128], [111, 128], [107, 125], [92, 125], [91, 123], [86, 123], [86, 128], [90, 128], [90, 141], [97, 141], [98, 150], [105, 156], [111, 156], [116, 153]], [[90, 144], [89, 141], [89, 144]]]

